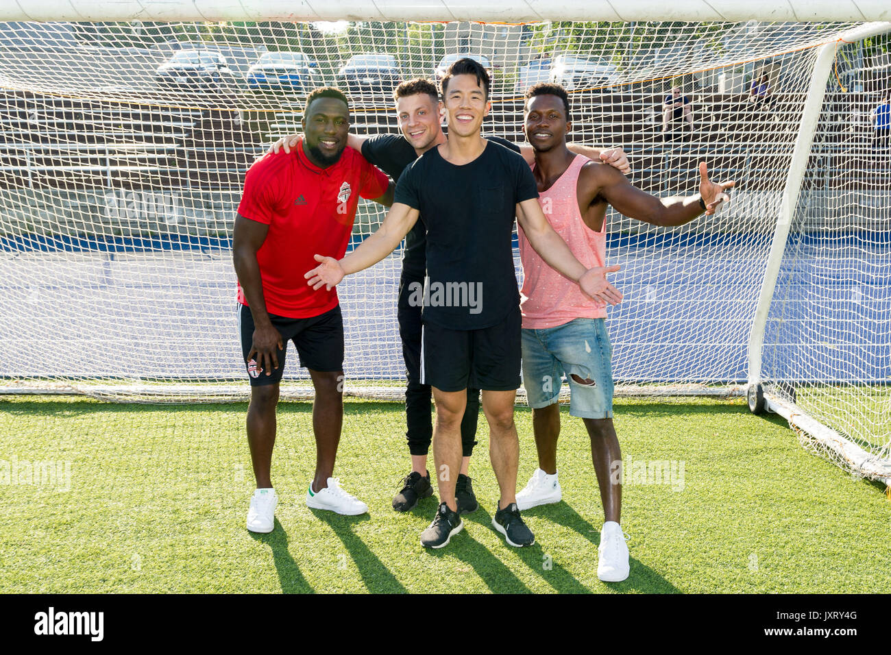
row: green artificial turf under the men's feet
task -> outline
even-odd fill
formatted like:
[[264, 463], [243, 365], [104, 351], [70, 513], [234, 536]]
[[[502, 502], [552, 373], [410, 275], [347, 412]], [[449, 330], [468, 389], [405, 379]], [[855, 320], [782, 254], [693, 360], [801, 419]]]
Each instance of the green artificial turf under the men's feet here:
[[[523, 513], [535, 545], [511, 548], [491, 528], [497, 486], [480, 416], [470, 472], [481, 507], [432, 552], [419, 535], [436, 495], [406, 514], [390, 505], [409, 471], [402, 405], [347, 402], [336, 475], [370, 512], [342, 517], [304, 503], [311, 405], [282, 403], [280, 500], [274, 532], [262, 536], [244, 528], [245, 412], [0, 401], [0, 592], [856, 593], [891, 583], [883, 488], [808, 453], [782, 419], [753, 416], [740, 399], [617, 400], [631, 536], [631, 576], [619, 584], [597, 579], [601, 500], [588, 438], [566, 409], [563, 502]], [[516, 419], [522, 487], [535, 446], [527, 408]], [[35, 462], [61, 463], [61, 475], [3, 478]]]

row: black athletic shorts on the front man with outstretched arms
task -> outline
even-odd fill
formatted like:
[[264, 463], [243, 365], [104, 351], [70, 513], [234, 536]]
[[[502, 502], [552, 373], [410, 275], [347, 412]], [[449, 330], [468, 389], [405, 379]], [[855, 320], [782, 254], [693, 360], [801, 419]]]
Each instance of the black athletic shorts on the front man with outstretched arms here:
[[440, 391], [519, 389], [519, 306], [501, 323], [481, 330], [450, 330], [424, 323], [421, 384]]

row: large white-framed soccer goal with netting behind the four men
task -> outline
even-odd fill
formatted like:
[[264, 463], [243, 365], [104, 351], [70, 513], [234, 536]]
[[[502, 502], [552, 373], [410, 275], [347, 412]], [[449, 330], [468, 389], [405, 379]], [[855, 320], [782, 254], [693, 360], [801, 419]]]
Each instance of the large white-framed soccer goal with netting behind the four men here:
[[[694, 193], [700, 160], [737, 182], [683, 227], [609, 215], [617, 392], [748, 393], [891, 480], [891, 152], [874, 112], [891, 88], [887, 8], [513, 5], [0, 8], [0, 391], [246, 398], [230, 250], [246, 169], [299, 130], [315, 86], [346, 91], [357, 132], [396, 132], [398, 81], [469, 54], [492, 74], [489, 134], [522, 140], [523, 94], [552, 81], [570, 91], [572, 139], [622, 146], [642, 189]], [[354, 245], [382, 216], [360, 207]], [[399, 258], [340, 287], [349, 394], [401, 397]], [[282, 391], [311, 395], [296, 366]]]

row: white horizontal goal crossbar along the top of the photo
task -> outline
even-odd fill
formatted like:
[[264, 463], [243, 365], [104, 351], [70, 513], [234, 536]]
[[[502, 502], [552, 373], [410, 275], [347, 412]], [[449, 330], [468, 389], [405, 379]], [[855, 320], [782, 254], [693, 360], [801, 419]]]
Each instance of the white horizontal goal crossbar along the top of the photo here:
[[520, 23], [541, 20], [630, 21], [745, 21], [888, 20], [885, 0], [608, 0], [551, 2], [550, 0], [15, 0], [0, 4], [0, 21], [226, 21], [226, 20], [474, 20]]

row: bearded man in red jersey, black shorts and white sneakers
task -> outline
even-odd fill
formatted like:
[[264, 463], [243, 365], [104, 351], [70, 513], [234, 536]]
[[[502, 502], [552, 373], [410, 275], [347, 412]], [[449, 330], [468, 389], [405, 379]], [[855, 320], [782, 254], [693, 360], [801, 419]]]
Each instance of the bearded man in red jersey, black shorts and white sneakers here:
[[387, 176], [347, 148], [349, 107], [338, 89], [315, 89], [301, 121], [304, 138], [290, 153], [266, 154], [249, 169], [233, 233], [241, 351], [250, 380], [248, 443], [257, 491], [248, 529], [271, 532], [278, 498], [270, 479], [275, 407], [285, 348], [292, 340], [315, 388], [315, 478], [307, 505], [362, 514], [367, 505], [333, 478], [343, 420], [343, 319], [337, 291], [313, 290], [303, 274], [323, 252], [342, 258], [359, 197], [393, 200]]

